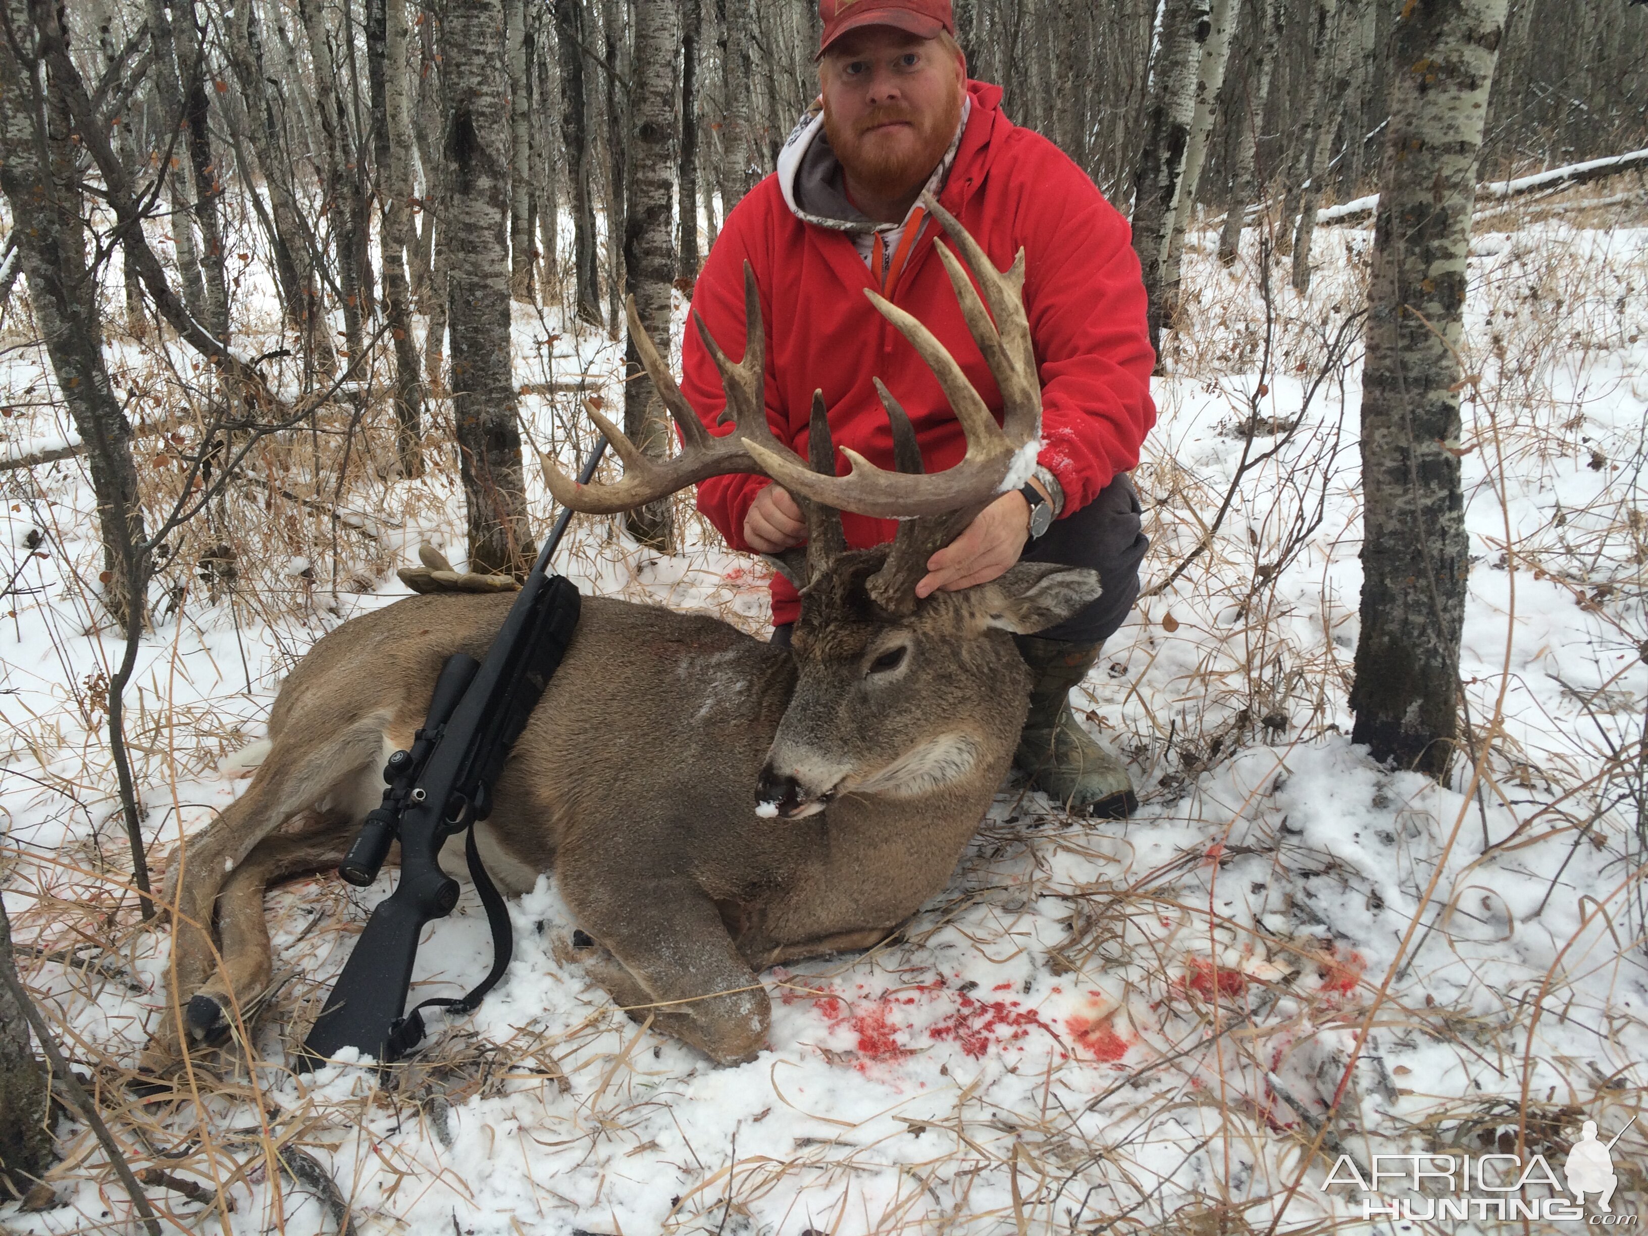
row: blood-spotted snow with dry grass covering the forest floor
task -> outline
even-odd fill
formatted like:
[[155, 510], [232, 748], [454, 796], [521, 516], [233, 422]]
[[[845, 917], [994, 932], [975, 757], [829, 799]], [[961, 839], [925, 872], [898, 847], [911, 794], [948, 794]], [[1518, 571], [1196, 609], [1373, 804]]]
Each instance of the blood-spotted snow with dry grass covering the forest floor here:
[[[1381, 770], [1348, 738], [1360, 331], [1343, 323], [1369, 244], [1366, 231], [1320, 232], [1310, 298], [1285, 272], [1274, 280], [1267, 344], [1257, 259], [1226, 274], [1213, 237], [1192, 237], [1190, 326], [1135, 475], [1154, 537], [1145, 597], [1083, 700], [1132, 761], [1139, 814], [1076, 821], [1004, 786], [949, 887], [897, 941], [763, 976], [771, 1046], [738, 1068], [618, 1012], [580, 972], [545, 878], [511, 903], [503, 986], [392, 1088], [354, 1066], [295, 1079], [283, 1045], [386, 875], [364, 892], [315, 878], [269, 897], [280, 986], [254, 1068], [204, 1058], [178, 1094], [122, 1091], [158, 1015], [166, 944], [119, 895], [129, 868], [99, 695], [119, 644], [92, 630], [89, 488], [73, 460], [0, 476], [3, 895], [20, 962], [97, 1071], [133, 1163], [221, 1183], [234, 1208], [206, 1218], [150, 1193], [178, 1226], [232, 1233], [331, 1231], [305, 1165], [363, 1233], [1417, 1231], [1435, 1224], [1365, 1218], [1365, 1195], [1343, 1183], [1353, 1168], [1439, 1150], [1543, 1154], [1561, 1172], [1582, 1119], [1604, 1139], [1623, 1131], [1648, 1083], [1648, 229], [1531, 224], [1473, 242], [1460, 443], [1472, 738], [1445, 786]], [[550, 382], [616, 397], [615, 349], [557, 310], [517, 308], [516, 328], [517, 372], [536, 384], [526, 427], [570, 466], [588, 432]], [[0, 359], [8, 455], [71, 440], [21, 338], [13, 323]], [[122, 338], [110, 356], [140, 419], [176, 400], [155, 344]], [[180, 351], [165, 356], [190, 372]], [[285, 460], [287, 488], [308, 476], [316, 493], [321, 450]], [[1210, 536], [1244, 452], [1257, 463]], [[140, 443], [147, 466], [163, 453]], [[420, 539], [460, 555], [453, 470], [404, 480], [381, 465], [356, 465], [346, 491], [381, 519], [376, 539], [333, 541], [328, 519], [265, 494], [213, 513], [219, 524], [188, 542], [196, 557], [171, 577], [188, 592], [127, 692], [157, 857], [239, 793], [219, 758], [260, 733], [279, 676], [321, 631], [400, 595], [391, 569]], [[765, 570], [691, 517], [674, 557], [636, 550], [608, 521], [575, 529], [565, 569], [582, 588], [761, 631]], [[234, 578], [203, 554], [216, 536], [255, 547]], [[466, 893], [427, 931], [419, 995], [466, 987], [489, 948]], [[5, 1206], [0, 1223], [130, 1229], [101, 1152], [79, 1126], [58, 1129], [61, 1205]], [[1613, 1208], [1636, 1213], [1641, 1122], [1613, 1162]], [[1379, 1205], [1422, 1216], [1439, 1187], [1388, 1175], [1381, 1192]], [[1454, 1229], [1501, 1226], [1480, 1210]]]

